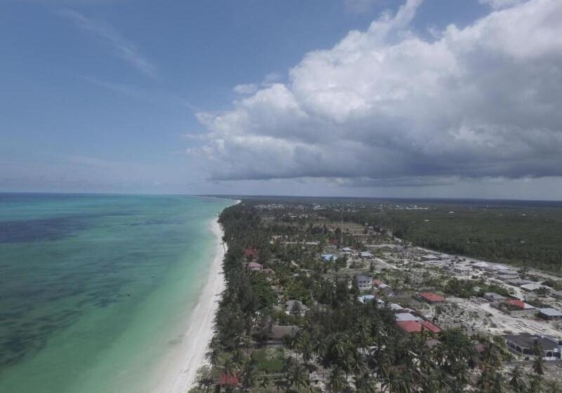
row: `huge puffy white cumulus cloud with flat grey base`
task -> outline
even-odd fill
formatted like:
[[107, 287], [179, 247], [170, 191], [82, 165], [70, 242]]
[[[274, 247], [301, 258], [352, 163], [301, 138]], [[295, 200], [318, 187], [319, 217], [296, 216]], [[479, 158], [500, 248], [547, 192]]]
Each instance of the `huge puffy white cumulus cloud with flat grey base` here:
[[408, 0], [306, 53], [273, 83], [202, 112], [191, 149], [214, 180], [377, 185], [562, 175], [562, 2], [530, 0], [428, 40]]

